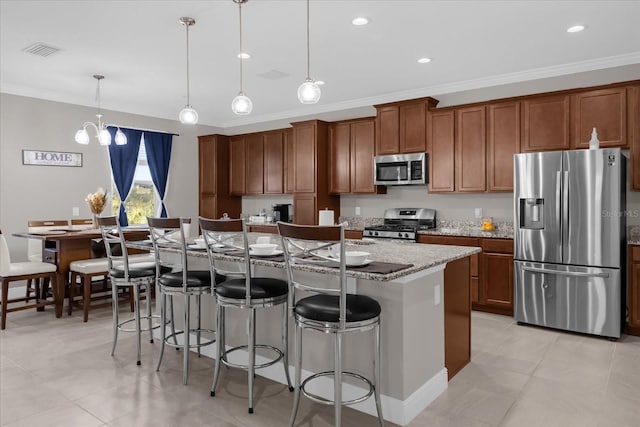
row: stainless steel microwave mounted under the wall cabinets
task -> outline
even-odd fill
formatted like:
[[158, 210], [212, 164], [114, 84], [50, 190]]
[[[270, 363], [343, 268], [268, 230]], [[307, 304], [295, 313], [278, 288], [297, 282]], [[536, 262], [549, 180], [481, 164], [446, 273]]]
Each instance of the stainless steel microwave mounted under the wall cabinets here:
[[375, 185], [420, 185], [427, 183], [427, 154], [375, 156]]

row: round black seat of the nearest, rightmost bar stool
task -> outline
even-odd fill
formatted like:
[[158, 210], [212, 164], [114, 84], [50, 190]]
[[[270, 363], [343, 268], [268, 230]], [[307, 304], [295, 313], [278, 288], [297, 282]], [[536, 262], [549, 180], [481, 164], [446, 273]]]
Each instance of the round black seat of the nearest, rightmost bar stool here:
[[[296, 303], [294, 311], [306, 319], [319, 322], [340, 321], [340, 297], [319, 294], [303, 298]], [[366, 295], [347, 294], [347, 322], [362, 322], [380, 315], [380, 304]]]

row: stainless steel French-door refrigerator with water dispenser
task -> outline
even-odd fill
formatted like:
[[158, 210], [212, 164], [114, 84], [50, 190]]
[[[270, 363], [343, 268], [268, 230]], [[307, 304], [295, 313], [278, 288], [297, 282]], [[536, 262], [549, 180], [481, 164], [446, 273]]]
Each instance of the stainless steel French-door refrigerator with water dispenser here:
[[514, 156], [514, 317], [619, 338], [626, 314], [619, 148]]

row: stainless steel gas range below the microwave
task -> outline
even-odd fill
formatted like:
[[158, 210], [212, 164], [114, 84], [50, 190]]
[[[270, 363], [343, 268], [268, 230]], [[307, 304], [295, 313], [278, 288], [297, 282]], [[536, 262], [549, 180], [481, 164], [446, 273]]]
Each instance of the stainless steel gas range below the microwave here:
[[384, 224], [365, 227], [363, 236], [418, 240], [418, 231], [436, 228], [436, 211], [427, 208], [392, 208], [384, 211]]

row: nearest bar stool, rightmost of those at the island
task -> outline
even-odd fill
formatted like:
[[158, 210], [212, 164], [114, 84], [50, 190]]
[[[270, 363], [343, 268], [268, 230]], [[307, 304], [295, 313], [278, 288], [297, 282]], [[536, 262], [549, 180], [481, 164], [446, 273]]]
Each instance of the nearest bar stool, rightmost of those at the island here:
[[[314, 402], [333, 405], [335, 425], [340, 426], [342, 418], [342, 405], [352, 405], [368, 399], [372, 394], [375, 397], [376, 410], [380, 426], [384, 425], [382, 406], [380, 404], [380, 304], [373, 298], [365, 295], [347, 294], [347, 275], [345, 261], [344, 229], [342, 226], [303, 226], [278, 222], [278, 231], [282, 237], [282, 246], [285, 252], [287, 275], [291, 293], [290, 302], [295, 318], [295, 348], [296, 348], [296, 373], [295, 395], [291, 420], [293, 426], [300, 394]], [[308, 276], [298, 277], [292, 264], [297, 258], [315, 256], [327, 261], [336, 262], [329, 258], [327, 249], [330, 246], [339, 245], [340, 274], [338, 283], [334, 287], [326, 282], [310, 283]], [[329, 282], [329, 280], [327, 280]], [[312, 296], [296, 300], [297, 289], [314, 293]], [[300, 383], [302, 371], [302, 330], [310, 329], [325, 334], [334, 335], [334, 366], [333, 371], [320, 372], [311, 375]], [[373, 379], [369, 380], [362, 375], [342, 370], [342, 335], [353, 332], [373, 331], [374, 356]], [[342, 400], [342, 377], [348, 376], [363, 382], [368, 391], [364, 395]], [[333, 377], [333, 399], [313, 394], [306, 390], [306, 386], [315, 379], [321, 377]]]

